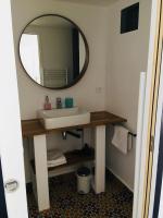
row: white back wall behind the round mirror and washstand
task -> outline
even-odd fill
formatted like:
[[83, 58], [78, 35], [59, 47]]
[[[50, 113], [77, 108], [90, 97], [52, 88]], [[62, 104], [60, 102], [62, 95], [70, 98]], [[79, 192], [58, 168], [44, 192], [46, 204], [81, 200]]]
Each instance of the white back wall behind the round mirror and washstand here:
[[[85, 107], [91, 111], [103, 110], [105, 108], [105, 16], [102, 8], [71, 4], [66, 2], [55, 2], [54, 0], [13, 0], [13, 27], [15, 50], [18, 51], [18, 40], [21, 32], [25, 25], [41, 14], [58, 13], [73, 20], [84, 32], [89, 49], [90, 62], [85, 76], [79, 83], [65, 90], [50, 90], [36, 85], [24, 73], [20, 64], [18, 52], [16, 52], [16, 66], [18, 92], [21, 101], [22, 119], [36, 118], [36, 111], [43, 107], [45, 96], [48, 95], [52, 105], [55, 98], [72, 96], [76, 105]], [[100, 87], [100, 92], [99, 92]], [[48, 136], [48, 148], [62, 147], [63, 150], [72, 149], [75, 145], [80, 145], [78, 140], [71, 136], [63, 141], [61, 134]], [[26, 180], [30, 180], [28, 162], [28, 145], [24, 141]]]

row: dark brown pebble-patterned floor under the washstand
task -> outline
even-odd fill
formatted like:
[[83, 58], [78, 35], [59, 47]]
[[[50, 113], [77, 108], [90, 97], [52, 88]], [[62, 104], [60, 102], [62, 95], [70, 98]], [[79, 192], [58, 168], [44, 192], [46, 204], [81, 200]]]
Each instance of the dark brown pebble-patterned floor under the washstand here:
[[74, 173], [50, 179], [51, 209], [39, 214], [32, 189], [27, 189], [29, 218], [131, 218], [133, 193], [106, 173], [106, 191], [96, 195], [76, 192]]

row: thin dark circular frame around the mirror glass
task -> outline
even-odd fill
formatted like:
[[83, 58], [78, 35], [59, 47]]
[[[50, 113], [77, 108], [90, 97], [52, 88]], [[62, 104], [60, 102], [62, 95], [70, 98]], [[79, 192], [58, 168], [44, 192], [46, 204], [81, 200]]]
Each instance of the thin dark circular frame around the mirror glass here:
[[[58, 16], [58, 17], [61, 17], [61, 19], [64, 19], [68, 22], [71, 22], [79, 32], [79, 34], [82, 35], [83, 37], [83, 40], [84, 40], [84, 45], [85, 45], [85, 49], [86, 49], [86, 58], [85, 58], [85, 63], [84, 63], [84, 66], [83, 66], [83, 70], [80, 71], [80, 74], [78, 77], [76, 77], [72, 83], [70, 83], [68, 85], [65, 85], [65, 86], [62, 86], [62, 87], [47, 87], [47, 86], [43, 86], [39, 83], [37, 83], [35, 80], [32, 78], [32, 76], [28, 74], [28, 72], [26, 71], [26, 69], [24, 68], [24, 64], [22, 62], [22, 58], [21, 58], [21, 53], [20, 53], [20, 45], [21, 45], [21, 38], [22, 38], [22, 35], [23, 33], [25, 32], [25, 29], [27, 28], [27, 26], [34, 22], [35, 20], [37, 19], [40, 19], [40, 17], [43, 17], [43, 16]], [[76, 23], [74, 23], [71, 19], [67, 19], [66, 16], [63, 16], [63, 15], [60, 15], [60, 14], [43, 14], [43, 15], [39, 15], [39, 16], [36, 16], [35, 19], [33, 19], [30, 22], [27, 23], [27, 25], [23, 28], [23, 31], [21, 32], [21, 36], [20, 36], [20, 40], [18, 40], [18, 58], [20, 58], [20, 62], [21, 62], [21, 65], [24, 70], [24, 72], [27, 74], [27, 76], [37, 85], [39, 85], [40, 87], [43, 87], [43, 88], [49, 88], [49, 89], [65, 89], [65, 88], [70, 88], [72, 86], [74, 86], [75, 84], [77, 84], [82, 77], [85, 75], [87, 69], [88, 69], [88, 64], [89, 64], [89, 47], [88, 47], [88, 43], [87, 43], [87, 39], [83, 33], [83, 31], [78, 27], [78, 25]]]

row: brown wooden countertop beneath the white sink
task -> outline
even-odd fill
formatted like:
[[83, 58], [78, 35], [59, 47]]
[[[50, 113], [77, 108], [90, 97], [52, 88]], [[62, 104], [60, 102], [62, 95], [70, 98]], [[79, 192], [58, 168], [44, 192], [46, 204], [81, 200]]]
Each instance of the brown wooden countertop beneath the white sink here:
[[22, 135], [23, 136], [34, 136], [34, 135], [41, 135], [48, 134], [55, 131], [64, 131], [68, 129], [76, 129], [76, 128], [91, 128], [97, 125], [106, 125], [106, 124], [115, 124], [126, 122], [127, 120], [115, 116], [113, 113], [106, 111], [98, 111], [90, 113], [90, 123], [84, 125], [76, 125], [76, 126], [68, 126], [62, 129], [52, 129], [46, 130], [42, 124], [39, 122], [39, 119], [33, 120], [23, 120], [22, 121]]

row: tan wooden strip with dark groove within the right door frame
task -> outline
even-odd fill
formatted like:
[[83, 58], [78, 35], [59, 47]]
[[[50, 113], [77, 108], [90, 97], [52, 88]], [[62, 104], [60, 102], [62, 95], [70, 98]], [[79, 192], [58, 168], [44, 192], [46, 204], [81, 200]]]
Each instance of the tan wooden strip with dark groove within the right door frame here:
[[163, 1], [158, 0], [156, 8], [156, 28], [155, 28], [155, 40], [154, 40], [154, 53], [153, 53], [153, 66], [152, 66], [152, 81], [150, 90], [150, 107], [149, 107], [149, 119], [148, 119], [148, 134], [147, 134], [147, 153], [146, 153], [146, 171], [145, 171], [145, 183], [143, 183], [143, 205], [142, 205], [142, 217], [147, 218], [151, 216], [150, 211], [150, 197], [151, 197], [151, 183], [152, 174], [154, 173], [154, 164], [158, 161], [153, 159], [156, 149], [156, 113], [158, 113], [158, 100], [159, 89], [161, 82], [161, 64], [162, 64], [162, 48], [163, 48]]

